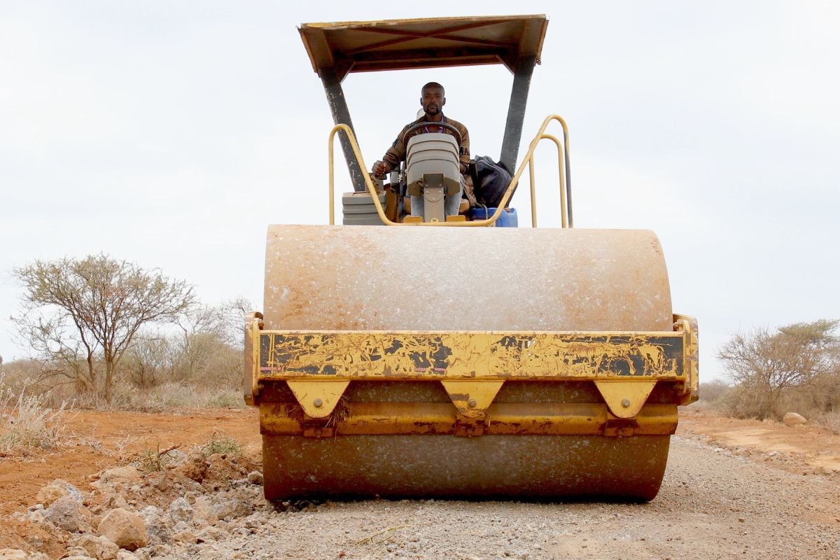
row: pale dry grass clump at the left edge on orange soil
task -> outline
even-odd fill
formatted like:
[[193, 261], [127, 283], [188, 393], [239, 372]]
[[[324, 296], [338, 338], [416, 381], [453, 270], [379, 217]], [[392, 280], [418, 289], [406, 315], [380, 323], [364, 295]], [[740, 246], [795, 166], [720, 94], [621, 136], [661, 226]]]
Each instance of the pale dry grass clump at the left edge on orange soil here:
[[55, 410], [44, 406], [41, 395], [17, 394], [0, 374], [0, 453], [28, 453], [34, 448], [52, 449], [65, 436], [66, 403]]

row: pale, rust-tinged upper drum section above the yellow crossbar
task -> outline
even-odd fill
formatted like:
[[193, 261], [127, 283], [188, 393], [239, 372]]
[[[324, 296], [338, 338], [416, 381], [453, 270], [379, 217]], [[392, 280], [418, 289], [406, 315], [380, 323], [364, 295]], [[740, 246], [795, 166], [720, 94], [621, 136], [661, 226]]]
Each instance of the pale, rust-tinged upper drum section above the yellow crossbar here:
[[265, 328], [670, 331], [644, 230], [270, 226]]

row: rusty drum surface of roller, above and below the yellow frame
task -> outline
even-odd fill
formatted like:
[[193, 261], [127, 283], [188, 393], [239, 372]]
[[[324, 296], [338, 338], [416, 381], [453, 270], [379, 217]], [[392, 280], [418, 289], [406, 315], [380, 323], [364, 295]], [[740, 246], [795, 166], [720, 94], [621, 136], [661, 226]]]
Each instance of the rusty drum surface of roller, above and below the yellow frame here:
[[[267, 330], [673, 330], [654, 233], [548, 228], [270, 226], [264, 322]], [[667, 435], [265, 434], [265, 495], [651, 500], [668, 444]]]

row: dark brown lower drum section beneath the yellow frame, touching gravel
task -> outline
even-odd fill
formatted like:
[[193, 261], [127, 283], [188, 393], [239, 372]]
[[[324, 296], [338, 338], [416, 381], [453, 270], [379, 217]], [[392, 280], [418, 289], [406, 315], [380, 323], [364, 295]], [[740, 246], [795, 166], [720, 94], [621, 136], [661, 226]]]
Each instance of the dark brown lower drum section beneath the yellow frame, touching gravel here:
[[265, 437], [265, 497], [652, 500], [668, 436]]

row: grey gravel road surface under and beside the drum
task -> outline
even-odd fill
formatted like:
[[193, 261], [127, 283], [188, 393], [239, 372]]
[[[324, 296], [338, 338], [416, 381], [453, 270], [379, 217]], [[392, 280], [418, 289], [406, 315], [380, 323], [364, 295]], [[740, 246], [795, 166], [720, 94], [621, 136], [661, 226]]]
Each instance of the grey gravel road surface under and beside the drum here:
[[795, 474], [692, 434], [675, 436], [644, 505], [365, 501], [265, 503], [176, 558], [838, 558], [840, 481]]

